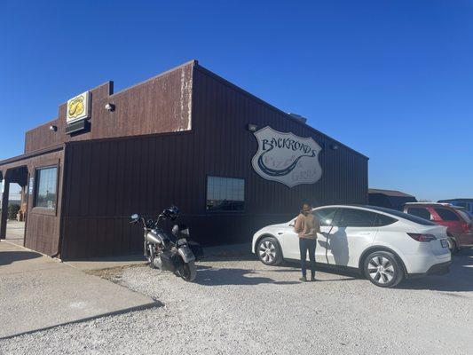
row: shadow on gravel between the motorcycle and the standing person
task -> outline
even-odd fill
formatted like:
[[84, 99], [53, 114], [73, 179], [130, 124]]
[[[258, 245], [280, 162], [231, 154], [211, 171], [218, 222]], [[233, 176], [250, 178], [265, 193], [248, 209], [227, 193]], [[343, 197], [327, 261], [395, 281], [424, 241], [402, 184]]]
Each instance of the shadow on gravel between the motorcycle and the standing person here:
[[197, 279], [194, 281], [203, 286], [222, 285], [260, 285], [262, 283], [272, 283], [275, 285], [293, 285], [298, 281], [275, 281], [266, 277], [248, 277], [255, 272], [248, 269], [199, 269]]

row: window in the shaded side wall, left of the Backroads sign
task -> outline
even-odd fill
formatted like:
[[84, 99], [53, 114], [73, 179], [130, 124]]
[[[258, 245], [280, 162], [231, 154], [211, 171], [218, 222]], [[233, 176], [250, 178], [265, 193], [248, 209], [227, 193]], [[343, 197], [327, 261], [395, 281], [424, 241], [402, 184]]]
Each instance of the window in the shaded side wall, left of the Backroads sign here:
[[208, 211], [241, 211], [245, 208], [245, 180], [207, 177]]

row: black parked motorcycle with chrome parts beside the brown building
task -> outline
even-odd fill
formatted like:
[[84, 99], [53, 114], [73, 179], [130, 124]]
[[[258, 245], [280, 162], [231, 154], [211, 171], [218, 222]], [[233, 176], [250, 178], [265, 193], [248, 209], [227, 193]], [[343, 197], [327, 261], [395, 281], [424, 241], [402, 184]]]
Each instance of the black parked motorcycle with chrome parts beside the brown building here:
[[151, 268], [174, 272], [183, 280], [192, 282], [197, 275], [195, 261], [203, 256], [201, 246], [190, 240], [186, 225], [174, 225], [171, 234], [165, 233], [160, 226], [162, 220], [174, 221], [178, 216], [179, 209], [171, 206], [164, 209], [155, 221], [134, 214], [130, 223], [141, 222], [143, 225], [144, 255]]

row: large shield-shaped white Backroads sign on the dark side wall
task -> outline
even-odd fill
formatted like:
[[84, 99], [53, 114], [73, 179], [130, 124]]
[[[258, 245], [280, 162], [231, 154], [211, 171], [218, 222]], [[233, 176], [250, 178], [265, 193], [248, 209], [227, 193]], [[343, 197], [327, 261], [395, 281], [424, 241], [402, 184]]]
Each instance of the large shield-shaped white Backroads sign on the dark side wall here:
[[251, 164], [260, 177], [289, 187], [314, 184], [322, 177], [322, 148], [312, 138], [279, 132], [269, 126], [255, 132], [255, 137], [258, 151]]

